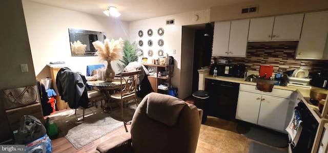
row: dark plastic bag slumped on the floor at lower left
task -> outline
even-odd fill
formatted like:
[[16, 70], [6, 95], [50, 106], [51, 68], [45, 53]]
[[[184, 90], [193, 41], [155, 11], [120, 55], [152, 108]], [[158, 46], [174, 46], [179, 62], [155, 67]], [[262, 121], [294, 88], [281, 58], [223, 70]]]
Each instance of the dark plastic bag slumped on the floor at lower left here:
[[24, 115], [19, 124], [17, 144], [27, 144], [47, 134], [45, 126], [34, 116]]

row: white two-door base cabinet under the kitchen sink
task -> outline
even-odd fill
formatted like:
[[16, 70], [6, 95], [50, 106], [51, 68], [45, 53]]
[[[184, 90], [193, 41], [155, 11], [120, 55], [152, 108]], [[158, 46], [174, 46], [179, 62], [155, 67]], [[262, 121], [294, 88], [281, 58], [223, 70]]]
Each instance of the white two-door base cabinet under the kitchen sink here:
[[265, 93], [255, 85], [240, 84], [236, 119], [284, 132], [291, 94], [279, 89]]

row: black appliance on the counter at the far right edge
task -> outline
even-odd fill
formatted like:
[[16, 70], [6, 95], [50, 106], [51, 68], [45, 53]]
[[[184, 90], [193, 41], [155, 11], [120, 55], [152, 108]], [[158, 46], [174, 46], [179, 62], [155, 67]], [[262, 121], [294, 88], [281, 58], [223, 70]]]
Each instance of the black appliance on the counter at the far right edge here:
[[312, 74], [310, 84], [322, 89], [328, 89], [328, 71]]

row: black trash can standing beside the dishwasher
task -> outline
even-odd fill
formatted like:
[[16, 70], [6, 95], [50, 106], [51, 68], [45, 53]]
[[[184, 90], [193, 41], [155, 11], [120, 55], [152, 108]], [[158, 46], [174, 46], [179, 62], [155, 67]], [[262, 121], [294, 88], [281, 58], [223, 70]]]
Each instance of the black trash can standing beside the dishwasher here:
[[194, 105], [203, 110], [203, 117], [201, 123], [203, 124], [207, 120], [207, 101], [210, 98], [210, 93], [207, 91], [199, 90], [193, 93]]

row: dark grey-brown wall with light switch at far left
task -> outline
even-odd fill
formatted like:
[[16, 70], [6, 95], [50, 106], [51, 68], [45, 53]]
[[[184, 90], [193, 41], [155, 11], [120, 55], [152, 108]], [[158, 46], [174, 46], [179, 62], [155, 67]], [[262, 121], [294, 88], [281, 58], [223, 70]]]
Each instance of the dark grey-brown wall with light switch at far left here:
[[[0, 1], [0, 90], [35, 85], [35, 75], [22, 2]], [[20, 64], [27, 64], [29, 72], [21, 72]], [[0, 92], [0, 143], [12, 138]]]

